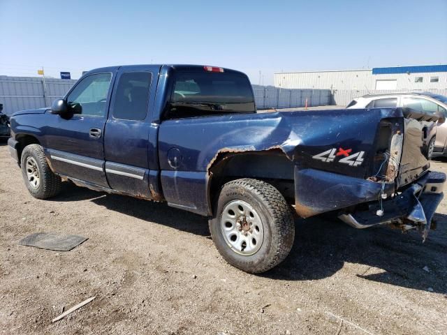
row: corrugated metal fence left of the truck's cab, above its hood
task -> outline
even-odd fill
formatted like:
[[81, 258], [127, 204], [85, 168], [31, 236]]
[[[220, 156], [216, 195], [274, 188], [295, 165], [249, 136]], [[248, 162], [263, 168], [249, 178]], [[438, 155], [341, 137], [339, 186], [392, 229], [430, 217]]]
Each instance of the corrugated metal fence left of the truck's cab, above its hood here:
[[[64, 96], [76, 80], [45, 78], [45, 91], [41, 77], [9, 77], [0, 75], [0, 103], [3, 113], [50, 106], [56, 98]], [[45, 94], [44, 94], [45, 93]]]

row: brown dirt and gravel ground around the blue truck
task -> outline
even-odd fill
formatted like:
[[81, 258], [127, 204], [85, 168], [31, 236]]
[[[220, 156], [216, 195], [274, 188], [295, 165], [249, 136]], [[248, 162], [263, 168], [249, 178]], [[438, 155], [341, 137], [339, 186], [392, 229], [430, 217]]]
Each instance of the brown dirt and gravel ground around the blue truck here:
[[[291, 255], [263, 276], [226, 264], [200, 216], [70, 184], [31, 198], [3, 144], [0, 208], [3, 334], [447, 333], [447, 201], [425, 244], [416, 232], [297, 221]], [[65, 253], [18, 244], [34, 232], [89, 239]]]

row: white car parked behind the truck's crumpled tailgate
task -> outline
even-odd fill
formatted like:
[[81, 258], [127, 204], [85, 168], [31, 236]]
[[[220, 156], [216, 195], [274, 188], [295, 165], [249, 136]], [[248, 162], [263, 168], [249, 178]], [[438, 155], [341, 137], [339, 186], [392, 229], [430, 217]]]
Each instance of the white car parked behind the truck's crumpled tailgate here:
[[447, 157], [447, 97], [430, 92], [412, 91], [404, 93], [367, 94], [355, 98], [346, 108], [402, 107], [411, 112], [432, 113], [442, 117], [435, 129], [427, 130], [427, 158]]

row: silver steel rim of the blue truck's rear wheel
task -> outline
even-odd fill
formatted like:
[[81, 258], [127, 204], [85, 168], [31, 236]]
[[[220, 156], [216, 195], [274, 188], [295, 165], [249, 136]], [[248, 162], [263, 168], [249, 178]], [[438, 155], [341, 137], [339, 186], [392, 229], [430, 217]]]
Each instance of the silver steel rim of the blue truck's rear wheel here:
[[243, 200], [233, 200], [223, 207], [221, 232], [226, 244], [240, 255], [253, 255], [263, 244], [261, 217]]

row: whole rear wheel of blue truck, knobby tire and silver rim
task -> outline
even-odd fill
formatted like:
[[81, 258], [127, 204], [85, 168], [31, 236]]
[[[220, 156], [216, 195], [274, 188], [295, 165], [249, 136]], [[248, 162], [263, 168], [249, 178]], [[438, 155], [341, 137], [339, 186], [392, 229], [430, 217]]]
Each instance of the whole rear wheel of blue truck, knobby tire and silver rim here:
[[259, 274], [287, 257], [295, 239], [295, 224], [290, 207], [276, 188], [247, 178], [223, 186], [210, 232], [227, 262]]

